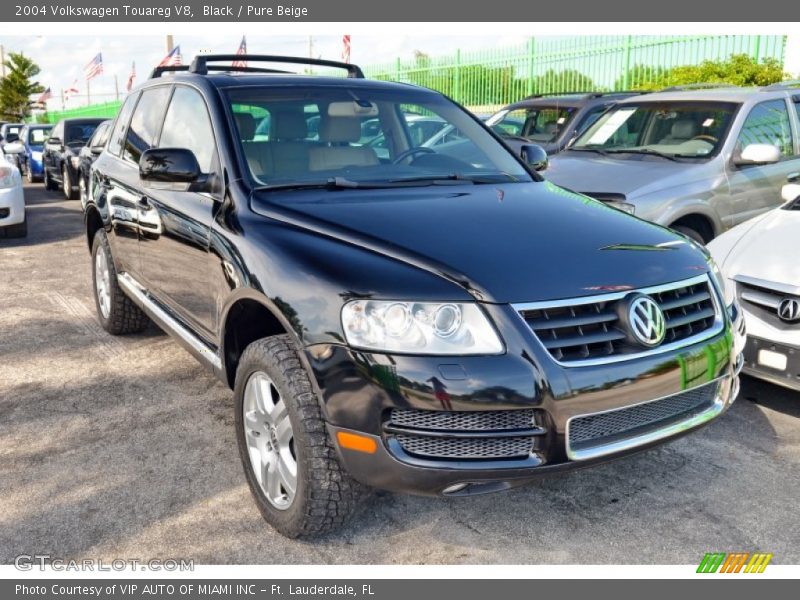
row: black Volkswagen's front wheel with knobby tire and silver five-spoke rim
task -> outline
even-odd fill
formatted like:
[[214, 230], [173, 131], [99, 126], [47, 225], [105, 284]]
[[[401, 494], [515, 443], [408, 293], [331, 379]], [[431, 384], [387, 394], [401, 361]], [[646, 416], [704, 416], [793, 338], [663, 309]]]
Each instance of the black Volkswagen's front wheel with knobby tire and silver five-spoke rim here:
[[[261, 401], [254, 401], [257, 389]], [[341, 526], [365, 489], [339, 462], [311, 380], [288, 335], [263, 338], [247, 347], [236, 369], [234, 394], [239, 455], [264, 519], [289, 538]], [[254, 462], [263, 475], [256, 474]], [[285, 483], [291, 481], [292, 462], [293, 494], [291, 483]], [[265, 463], [276, 465], [272, 475], [261, 468]], [[281, 477], [281, 471], [290, 476]], [[279, 485], [270, 485], [276, 479]]]

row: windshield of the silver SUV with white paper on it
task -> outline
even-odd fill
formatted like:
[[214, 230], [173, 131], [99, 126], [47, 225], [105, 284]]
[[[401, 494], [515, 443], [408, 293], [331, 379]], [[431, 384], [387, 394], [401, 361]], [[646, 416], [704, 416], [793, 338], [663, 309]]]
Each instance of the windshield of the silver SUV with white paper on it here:
[[707, 158], [722, 146], [736, 106], [723, 102], [621, 104], [602, 115], [571, 150]]

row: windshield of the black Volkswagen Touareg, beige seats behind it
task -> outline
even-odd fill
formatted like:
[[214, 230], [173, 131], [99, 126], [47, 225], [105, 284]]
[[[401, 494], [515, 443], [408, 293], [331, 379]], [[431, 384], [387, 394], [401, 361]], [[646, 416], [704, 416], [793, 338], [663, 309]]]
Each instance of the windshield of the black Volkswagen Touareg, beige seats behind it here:
[[[247, 87], [228, 92], [228, 100], [258, 185], [531, 181], [468, 113], [431, 92]], [[444, 128], [458, 130], [459, 139], [425, 144]]]

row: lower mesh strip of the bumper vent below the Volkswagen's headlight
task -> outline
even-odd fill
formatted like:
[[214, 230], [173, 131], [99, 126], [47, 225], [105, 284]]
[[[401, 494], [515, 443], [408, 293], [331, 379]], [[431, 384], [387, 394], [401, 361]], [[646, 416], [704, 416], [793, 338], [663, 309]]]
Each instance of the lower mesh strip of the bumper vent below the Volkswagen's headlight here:
[[438, 459], [525, 458], [533, 449], [533, 440], [528, 437], [436, 438], [398, 435], [397, 441], [409, 454]]

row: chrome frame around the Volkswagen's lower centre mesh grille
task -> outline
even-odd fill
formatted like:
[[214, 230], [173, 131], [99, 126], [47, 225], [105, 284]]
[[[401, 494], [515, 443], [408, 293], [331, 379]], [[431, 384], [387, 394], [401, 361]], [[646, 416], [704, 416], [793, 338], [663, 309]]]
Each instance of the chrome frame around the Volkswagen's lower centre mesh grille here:
[[[697, 386], [695, 388], [691, 388], [690, 390], [686, 390], [685, 392], [678, 392], [678, 394], [670, 394], [669, 396], [663, 396], [661, 398], [656, 398], [654, 400], [647, 400], [645, 402], [640, 402], [638, 404], [631, 404], [630, 406], [613, 408], [607, 411], [600, 411], [597, 413], [588, 413], [583, 415], [574, 415], [567, 420], [567, 427], [565, 432], [567, 457], [570, 460], [589, 460], [592, 458], [607, 456], [609, 454], [616, 454], [617, 452], [623, 452], [625, 450], [633, 449], [638, 446], [650, 444], [662, 440], [664, 438], [672, 437], [689, 429], [698, 427], [719, 416], [725, 410], [725, 407], [731, 402], [733, 402], [733, 400], [736, 397], [736, 392], [738, 392], [738, 389], [736, 389], [737, 385], [738, 385], [738, 379], [736, 378], [728, 377], [726, 381], [726, 377], [720, 377], [709, 383]], [[634, 434], [629, 437], [622, 436], [619, 437], [618, 439], [613, 439], [606, 443], [603, 443], [601, 441], [597, 445], [590, 445], [588, 447], [575, 448], [570, 443], [571, 439], [570, 429], [573, 426], [572, 425], [573, 421], [575, 421], [576, 419], [593, 417], [606, 413], [614, 413], [619, 411], [636, 409], [638, 407], [646, 406], [648, 404], [668, 400], [682, 393], [698, 391], [699, 388], [709, 388], [710, 386], [714, 386], [713, 394], [709, 392], [708, 400], [705, 402], [699, 402], [694, 411], [689, 410], [687, 412], [687, 417], [685, 419], [678, 419], [678, 420], [673, 419], [671, 421], [669, 419], [665, 419], [664, 421], [667, 422], [663, 427], [658, 427], [657, 426], [658, 422], [651, 423], [650, 425], [652, 426], [652, 428], [643, 433], [636, 434], [634, 429], [633, 430]], [[730, 391], [733, 390], [736, 390], [736, 392], [729, 393]], [[679, 414], [675, 415], [675, 417], [678, 416], [680, 415]]]

